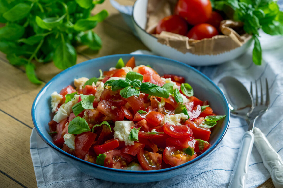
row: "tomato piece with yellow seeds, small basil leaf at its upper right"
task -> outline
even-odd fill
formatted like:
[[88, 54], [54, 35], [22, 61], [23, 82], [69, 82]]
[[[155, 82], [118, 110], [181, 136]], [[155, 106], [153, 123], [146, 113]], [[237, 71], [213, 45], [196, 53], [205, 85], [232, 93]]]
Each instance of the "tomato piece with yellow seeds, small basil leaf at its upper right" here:
[[171, 166], [181, 165], [196, 158], [196, 152], [190, 156], [183, 152], [183, 148], [177, 146], [167, 146], [163, 152], [162, 159]]

